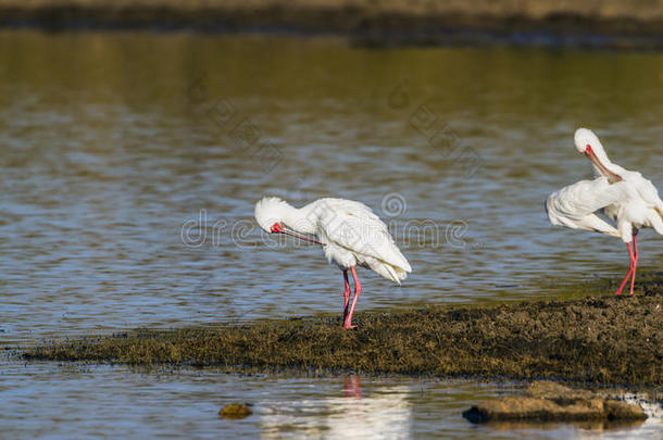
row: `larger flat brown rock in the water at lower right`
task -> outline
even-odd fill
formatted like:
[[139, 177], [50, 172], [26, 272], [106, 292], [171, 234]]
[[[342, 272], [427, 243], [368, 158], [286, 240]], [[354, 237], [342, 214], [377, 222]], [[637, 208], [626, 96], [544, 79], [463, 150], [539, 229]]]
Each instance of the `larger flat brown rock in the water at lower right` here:
[[463, 417], [472, 423], [643, 420], [647, 414], [638, 405], [542, 380], [533, 382], [524, 395], [486, 401], [465, 411]]

